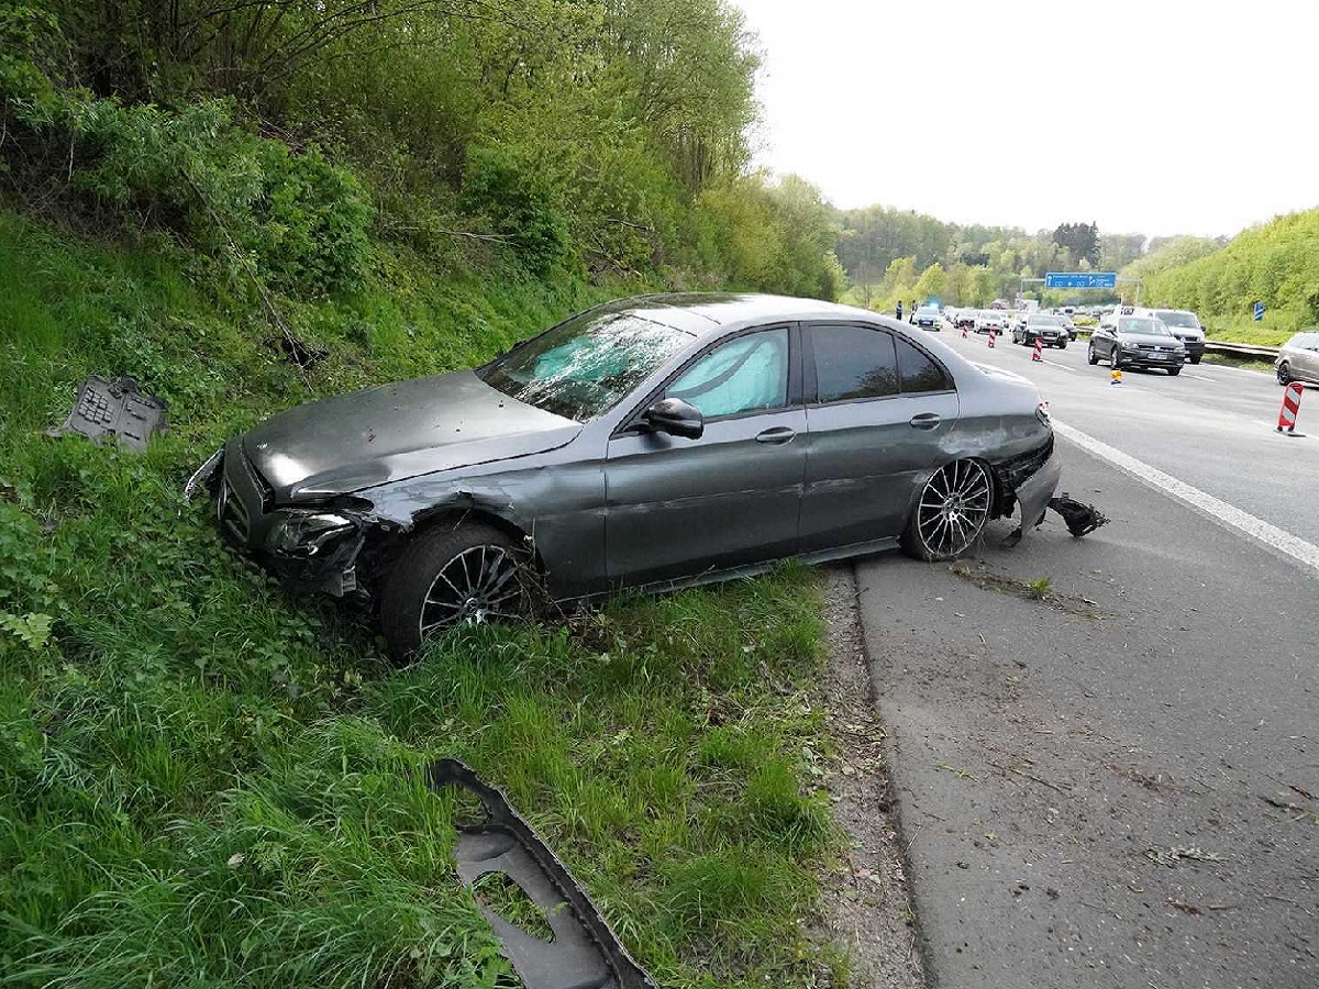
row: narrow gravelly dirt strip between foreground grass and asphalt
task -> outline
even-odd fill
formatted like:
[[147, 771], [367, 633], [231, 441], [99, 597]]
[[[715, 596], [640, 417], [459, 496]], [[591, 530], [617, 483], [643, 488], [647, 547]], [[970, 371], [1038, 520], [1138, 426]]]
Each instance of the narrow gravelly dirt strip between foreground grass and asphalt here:
[[844, 860], [824, 882], [824, 934], [848, 953], [853, 989], [925, 989], [856, 579], [848, 566], [830, 567], [824, 576], [830, 657], [820, 691], [834, 753], [826, 782], [848, 840]]

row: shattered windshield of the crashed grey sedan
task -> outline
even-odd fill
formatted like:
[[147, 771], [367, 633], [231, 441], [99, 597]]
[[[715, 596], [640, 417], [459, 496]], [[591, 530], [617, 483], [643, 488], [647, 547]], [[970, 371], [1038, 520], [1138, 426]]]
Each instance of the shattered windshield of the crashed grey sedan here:
[[588, 311], [477, 371], [491, 388], [586, 422], [617, 405], [692, 335], [632, 313]]

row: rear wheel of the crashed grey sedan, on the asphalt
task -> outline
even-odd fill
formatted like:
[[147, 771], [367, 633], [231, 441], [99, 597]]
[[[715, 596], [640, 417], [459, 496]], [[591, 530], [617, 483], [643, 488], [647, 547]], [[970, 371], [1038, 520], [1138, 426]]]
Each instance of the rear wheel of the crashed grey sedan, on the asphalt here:
[[921, 487], [900, 543], [919, 560], [956, 559], [971, 549], [989, 521], [993, 477], [980, 460], [954, 460]]

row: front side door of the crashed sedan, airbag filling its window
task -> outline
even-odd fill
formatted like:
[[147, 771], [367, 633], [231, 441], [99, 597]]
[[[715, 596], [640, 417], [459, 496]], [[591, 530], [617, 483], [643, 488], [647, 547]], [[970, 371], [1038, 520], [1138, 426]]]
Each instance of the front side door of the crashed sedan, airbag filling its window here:
[[[609, 439], [605, 560], [611, 583], [645, 584], [797, 551], [806, 471], [799, 335], [756, 328], [699, 353]], [[704, 434], [646, 433], [660, 398], [700, 410]]]

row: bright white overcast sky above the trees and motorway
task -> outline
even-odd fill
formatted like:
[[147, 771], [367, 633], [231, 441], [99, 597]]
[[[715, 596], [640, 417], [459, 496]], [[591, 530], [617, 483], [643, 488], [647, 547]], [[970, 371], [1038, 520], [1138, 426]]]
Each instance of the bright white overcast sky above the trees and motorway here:
[[1319, 206], [1319, 0], [729, 0], [758, 164], [842, 208], [1232, 235]]

